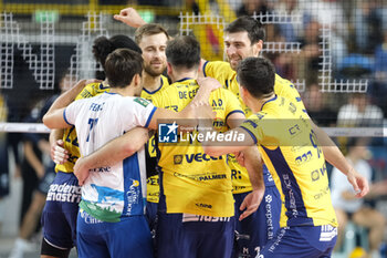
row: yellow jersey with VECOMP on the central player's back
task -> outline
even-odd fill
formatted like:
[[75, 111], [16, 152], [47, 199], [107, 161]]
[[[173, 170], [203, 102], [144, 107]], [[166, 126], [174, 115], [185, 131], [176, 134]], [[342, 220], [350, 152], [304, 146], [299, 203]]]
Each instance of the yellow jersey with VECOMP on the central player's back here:
[[[179, 112], [191, 102], [198, 87], [196, 80], [182, 79], [155, 94], [153, 103], [155, 106]], [[243, 113], [238, 99], [224, 89], [211, 93], [210, 104], [217, 117], [222, 121], [227, 121], [234, 112]], [[228, 130], [226, 124], [217, 125], [219, 131]], [[233, 216], [231, 172], [226, 157], [209, 156], [200, 144], [184, 143], [188, 141], [187, 137], [192, 140], [197, 132], [181, 135], [176, 144], [158, 144], [158, 165], [163, 171], [166, 211], [213, 217]]]

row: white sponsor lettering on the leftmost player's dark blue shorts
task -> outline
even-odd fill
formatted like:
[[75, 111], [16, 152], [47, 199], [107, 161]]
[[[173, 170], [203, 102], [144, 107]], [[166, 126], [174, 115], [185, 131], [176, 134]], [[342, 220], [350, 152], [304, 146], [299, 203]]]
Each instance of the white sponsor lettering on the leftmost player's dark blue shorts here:
[[80, 203], [81, 186], [62, 184], [52, 184], [50, 186], [46, 200]]

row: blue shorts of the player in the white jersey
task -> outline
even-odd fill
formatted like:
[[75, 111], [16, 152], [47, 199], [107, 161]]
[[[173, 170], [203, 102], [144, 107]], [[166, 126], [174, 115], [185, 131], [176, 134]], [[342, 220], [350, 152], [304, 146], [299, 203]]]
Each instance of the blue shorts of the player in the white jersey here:
[[76, 229], [80, 258], [154, 257], [150, 230], [144, 215], [124, 217], [119, 223], [104, 223], [80, 209]]

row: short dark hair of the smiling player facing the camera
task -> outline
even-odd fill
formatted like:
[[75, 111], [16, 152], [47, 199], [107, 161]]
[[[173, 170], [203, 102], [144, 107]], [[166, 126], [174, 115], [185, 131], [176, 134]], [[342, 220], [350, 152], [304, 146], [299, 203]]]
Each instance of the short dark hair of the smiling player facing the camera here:
[[251, 17], [240, 17], [233, 22], [231, 22], [226, 29], [226, 32], [236, 33], [236, 32], [248, 32], [248, 37], [251, 43], [257, 43], [258, 41], [264, 41], [264, 29], [259, 21]]

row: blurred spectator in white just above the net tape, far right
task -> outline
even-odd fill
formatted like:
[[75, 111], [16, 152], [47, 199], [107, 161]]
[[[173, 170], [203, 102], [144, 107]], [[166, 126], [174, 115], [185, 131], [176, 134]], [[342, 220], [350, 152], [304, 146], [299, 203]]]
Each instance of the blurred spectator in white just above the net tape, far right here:
[[354, 93], [348, 104], [338, 110], [338, 126], [381, 126], [383, 111], [380, 107], [369, 103], [369, 97], [365, 93]]

